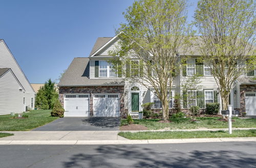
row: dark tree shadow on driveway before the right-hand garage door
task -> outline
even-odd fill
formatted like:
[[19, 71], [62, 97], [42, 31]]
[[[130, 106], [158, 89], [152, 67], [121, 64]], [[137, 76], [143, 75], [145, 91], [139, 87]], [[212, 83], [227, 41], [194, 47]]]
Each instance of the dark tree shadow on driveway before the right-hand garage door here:
[[115, 128], [120, 125], [120, 118], [115, 117], [88, 117], [82, 120], [84, 125], [92, 125], [102, 128]]

